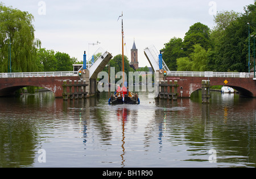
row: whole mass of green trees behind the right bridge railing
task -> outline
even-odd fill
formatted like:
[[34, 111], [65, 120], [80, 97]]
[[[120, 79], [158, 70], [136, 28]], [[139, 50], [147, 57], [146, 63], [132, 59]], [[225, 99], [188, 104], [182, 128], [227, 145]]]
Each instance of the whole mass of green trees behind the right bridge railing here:
[[[221, 11], [214, 16], [211, 31], [201, 23], [189, 27], [184, 40], [172, 38], [164, 44], [163, 59], [170, 70], [248, 72], [249, 26], [256, 36], [256, 1], [244, 13]], [[250, 67], [253, 68], [253, 38], [250, 37]], [[177, 67], [175, 66], [177, 65]], [[175, 69], [176, 68], [176, 69]]]

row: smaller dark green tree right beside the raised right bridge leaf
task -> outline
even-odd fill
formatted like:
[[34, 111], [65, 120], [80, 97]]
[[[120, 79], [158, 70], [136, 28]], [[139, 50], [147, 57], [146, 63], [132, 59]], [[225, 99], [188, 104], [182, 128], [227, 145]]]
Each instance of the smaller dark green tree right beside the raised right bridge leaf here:
[[184, 57], [183, 40], [181, 38], [172, 38], [164, 44], [163, 59], [170, 70], [177, 70], [177, 59]]

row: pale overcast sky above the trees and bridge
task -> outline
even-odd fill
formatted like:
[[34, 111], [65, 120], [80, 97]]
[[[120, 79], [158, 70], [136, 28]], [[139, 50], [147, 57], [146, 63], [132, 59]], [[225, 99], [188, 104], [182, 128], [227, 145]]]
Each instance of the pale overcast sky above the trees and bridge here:
[[[0, 0], [1, 1], [1, 0]], [[171, 38], [184, 38], [189, 27], [201, 22], [213, 28], [216, 11], [234, 10], [254, 0], [2, 0], [34, 15], [35, 38], [42, 47], [65, 52], [82, 61], [84, 51], [91, 56], [99, 47], [122, 53], [121, 20], [123, 11], [125, 55], [135, 39], [139, 66], [150, 66], [144, 48], [155, 45], [160, 50]], [[89, 45], [100, 42], [99, 45]], [[89, 52], [88, 52], [89, 51]]]

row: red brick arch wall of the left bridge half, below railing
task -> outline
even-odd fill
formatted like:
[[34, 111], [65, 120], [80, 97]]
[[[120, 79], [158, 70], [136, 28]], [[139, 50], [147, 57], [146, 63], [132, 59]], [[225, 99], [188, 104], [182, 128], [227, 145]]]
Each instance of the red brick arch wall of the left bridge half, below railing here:
[[62, 97], [63, 80], [80, 80], [79, 77], [23, 77], [23, 78], [0, 78], [0, 96], [14, 95], [15, 91], [26, 86], [38, 86], [48, 89], [55, 97]]

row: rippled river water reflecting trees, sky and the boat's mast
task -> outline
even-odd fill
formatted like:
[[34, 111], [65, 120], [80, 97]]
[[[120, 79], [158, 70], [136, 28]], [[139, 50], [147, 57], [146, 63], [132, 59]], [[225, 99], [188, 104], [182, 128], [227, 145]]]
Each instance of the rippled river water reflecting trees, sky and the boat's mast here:
[[202, 104], [196, 95], [172, 101], [141, 92], [140, 105], [108, 105], [108, 93], [0, 98], [0, 167], [255, 167], [256, 99], [211, 92]]

